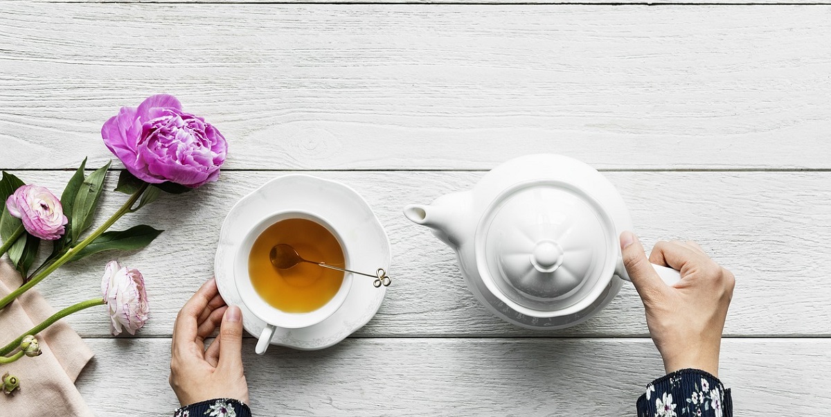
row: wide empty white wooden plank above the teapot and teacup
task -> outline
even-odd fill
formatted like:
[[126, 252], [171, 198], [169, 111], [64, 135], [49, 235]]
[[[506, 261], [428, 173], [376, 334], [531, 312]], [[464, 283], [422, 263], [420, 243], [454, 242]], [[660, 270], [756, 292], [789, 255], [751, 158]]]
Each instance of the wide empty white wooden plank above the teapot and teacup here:
[[[176, 19], [160, 19], [176, 16]], [[831, 7], [5, 2], [0, 168], [179, 96], [229, 169], [829, 169]]]

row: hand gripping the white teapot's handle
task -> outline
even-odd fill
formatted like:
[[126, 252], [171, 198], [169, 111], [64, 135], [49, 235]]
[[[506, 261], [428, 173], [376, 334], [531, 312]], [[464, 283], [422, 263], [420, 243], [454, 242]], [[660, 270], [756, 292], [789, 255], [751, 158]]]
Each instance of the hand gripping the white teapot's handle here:
[[[692, 241], [658, 242], [647, 260], [632, 232], [621, 233], [623, 265], [647, 312], [652, 341], [666, 373], [685, 368], [706, 370], [718, 377], [721, 331], [733, 297], [735, 277]], [[650, 263], [681, 272], [668, 286]]]

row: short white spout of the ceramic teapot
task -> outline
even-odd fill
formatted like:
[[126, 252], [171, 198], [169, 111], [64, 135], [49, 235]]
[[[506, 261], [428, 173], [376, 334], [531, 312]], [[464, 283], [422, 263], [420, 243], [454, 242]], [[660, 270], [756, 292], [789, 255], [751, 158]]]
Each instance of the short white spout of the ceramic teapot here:
[[464, 193], [447, 194], [435, 199], [433, 204], [410, 204], [404, 208], [404, 215], [411, 222], [433, 229], [433, 234], [450, 248], [459, 248], [465, 236], [470, 211]]

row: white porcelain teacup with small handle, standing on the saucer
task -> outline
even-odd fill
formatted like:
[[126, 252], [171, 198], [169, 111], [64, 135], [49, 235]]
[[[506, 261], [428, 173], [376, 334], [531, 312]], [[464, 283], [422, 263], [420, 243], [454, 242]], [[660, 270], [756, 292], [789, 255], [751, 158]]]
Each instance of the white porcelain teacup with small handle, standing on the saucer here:
[[263, 297], [261, 297], [254, 288], [252, 279], [249, 275], [248, 256], [251, 253], [254, 242], [260, 234], [263, 233], [263, 231], [275, 223], [290, 218], [310, 220], [321, 225], [323, 228], [326, 228], [327, 231], [332, 233], [332, 236], [337, 239], [337, 243], [340, 244], [343, 251], [343, 259], [346, 263], [345, 267], [350, 267], [349, 249], [344, 244], [344, 240], [341, 238], [341, 235], [337, 233], [337, 230], [332, 227], [331, 223], [327, 222], [326, 219], [316, 213], [302, 210], [273, 213], [271, 216], [264, 218], [253, 228], [248, 230], [248, 233], [245, 234], [242, 244], [238, 246], [234, 256], [234, 282], [236, 284], [240, 300], [243, 302], [245, 307], [248, 307], [248, 310], [250, 310], [254, 316], [257, 316], [260, 320], [265, 321], [266, 323], [265, 328], [263, 328], [263, 331], [260, 333], [257, 346], [255, 348], [258, 355], [262, 355], [265, 353], [266, 349], [268, 349], [269, 342], [274, 335], [274, 331], [276, 331], [278, 327], [284, 329], [298, 329], [314, 326], [317, 323], [326, 320], [329, 316], [332, 316], [332, 314], [336, 312], [347, 299], [347, 294], [352, 289], [352, 283], [354, 282], [351, 273], [344, 274], [341, 286], [335, 295], [328, 302], [322, 305], [322, 307], [319, 307], [311, 312], [284, 312], [283, 310], [273, 307], [265, 299], [263, 299]]

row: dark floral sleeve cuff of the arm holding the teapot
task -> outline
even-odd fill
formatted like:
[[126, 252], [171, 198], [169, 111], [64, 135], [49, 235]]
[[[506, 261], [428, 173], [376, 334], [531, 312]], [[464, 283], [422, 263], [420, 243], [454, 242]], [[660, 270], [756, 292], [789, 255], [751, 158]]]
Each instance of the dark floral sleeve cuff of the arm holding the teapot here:
[[696, 369], [676, 370], [647, 385], [637, 399], [637, 417], [733, 417], [730, 389]]

